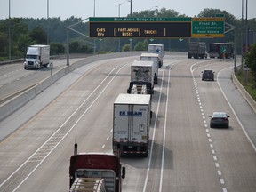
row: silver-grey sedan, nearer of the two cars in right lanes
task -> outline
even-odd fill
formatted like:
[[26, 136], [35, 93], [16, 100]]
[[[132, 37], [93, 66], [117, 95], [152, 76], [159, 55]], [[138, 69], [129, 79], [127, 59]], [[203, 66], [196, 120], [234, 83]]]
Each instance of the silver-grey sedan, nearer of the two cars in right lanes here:
[[226, 112], [213, 112], [210, 120], [210, 127], [229, 128], [229, 116]]

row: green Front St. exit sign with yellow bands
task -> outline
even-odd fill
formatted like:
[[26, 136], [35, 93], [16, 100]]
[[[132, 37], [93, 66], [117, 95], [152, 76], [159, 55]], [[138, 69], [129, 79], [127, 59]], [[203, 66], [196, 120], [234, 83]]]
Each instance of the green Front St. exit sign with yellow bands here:
[[224, 37], [224, 18], [192, 18], [191, 37]]

